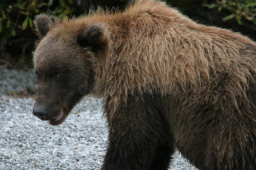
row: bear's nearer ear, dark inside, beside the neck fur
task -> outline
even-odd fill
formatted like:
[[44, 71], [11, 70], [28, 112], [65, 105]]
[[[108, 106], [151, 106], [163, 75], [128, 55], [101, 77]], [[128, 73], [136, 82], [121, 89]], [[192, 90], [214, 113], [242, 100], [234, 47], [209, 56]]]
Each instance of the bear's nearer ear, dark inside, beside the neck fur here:
[[77, 44], [82, 47], [90, 46], [93, 52], [97, 52], [105, 42], [104, 28], [100, 23], [94, 23], [89, 26], [85, 32], [79, 32]]

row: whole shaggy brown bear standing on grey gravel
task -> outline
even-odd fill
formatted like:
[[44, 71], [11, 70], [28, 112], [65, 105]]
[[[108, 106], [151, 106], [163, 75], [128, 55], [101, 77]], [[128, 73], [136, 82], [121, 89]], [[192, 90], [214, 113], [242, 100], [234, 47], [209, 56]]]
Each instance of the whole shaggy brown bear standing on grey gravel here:
[[154, 0], [35, 27], [33, 113], [59, 125], [82, 96], [102, 97], [102, 169], [168, 169], [175, 148], [199, 169], [256, 169], [254, 41]]

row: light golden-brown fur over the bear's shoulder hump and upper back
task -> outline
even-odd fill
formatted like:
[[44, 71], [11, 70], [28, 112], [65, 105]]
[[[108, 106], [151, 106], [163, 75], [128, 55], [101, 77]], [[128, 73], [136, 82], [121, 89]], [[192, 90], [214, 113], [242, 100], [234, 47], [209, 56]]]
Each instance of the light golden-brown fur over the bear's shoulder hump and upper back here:
[[[108, 52], [94, 64], [96, 86], [111, 82], [114, 86], [105, 90], [111, 96], [120, 85], [127, 88], [118, 89], [117, 94], [127, 94], [133, 85], [150, 89], [152, 84], [196, 91], [212, 83], [214, 75], [219, 79], [217, 72], [240, 73], [232, 79], [244, 91], [246, 76], [251, 76], [248, 69], [255, 71], [254, 54], [240, 55], [247, 46], [255, 47], [255, 42], [229, 30], [197, 24], [163, 2], [138, 1], [125, 12], [114, 14], [99, 9], [79, 19], [64, 20], [52, 29], [76, 34], [92, 23], [105, 25], [108, 34]], [[239, 67], [237, 61], [246, 59], [244, 66]], [[115, 73], [118, 76], [113, 76]], [[145, 78], [150, 82], [145, 82]], [[166, 94], [167, 88], [161, 92]], [[113, 99], [119, 101], [119, 97]]]

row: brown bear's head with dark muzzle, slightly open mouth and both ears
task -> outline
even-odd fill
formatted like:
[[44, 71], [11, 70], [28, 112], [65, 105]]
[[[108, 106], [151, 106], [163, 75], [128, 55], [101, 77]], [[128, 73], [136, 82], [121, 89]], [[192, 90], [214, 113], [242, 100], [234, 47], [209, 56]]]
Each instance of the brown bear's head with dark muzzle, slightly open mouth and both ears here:
[[79, 28], [70, 21], [53, 22], [45, 14], [36, 16], [34, 23], [40, 40], [34, 52], [39, 84], [33, 114], [59, 125], [92, 90], [94, 62], [108, 38], [100, 23], [85, 23]]

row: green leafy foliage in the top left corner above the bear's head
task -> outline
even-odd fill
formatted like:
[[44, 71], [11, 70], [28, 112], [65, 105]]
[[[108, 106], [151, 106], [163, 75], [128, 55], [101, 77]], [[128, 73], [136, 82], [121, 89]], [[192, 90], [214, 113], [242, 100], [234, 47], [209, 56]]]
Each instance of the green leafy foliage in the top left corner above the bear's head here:
[[[18, 29], [32, 28], [32, 19], [39, 12], [45, 12], [63, 18], [74, 11], [72, 0], [1, 0], [0, 33], [9, 32], [15, 36]], [[7, 31], [7, 32], [6, 32]]]

